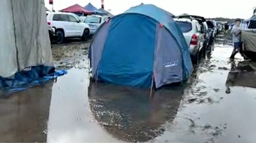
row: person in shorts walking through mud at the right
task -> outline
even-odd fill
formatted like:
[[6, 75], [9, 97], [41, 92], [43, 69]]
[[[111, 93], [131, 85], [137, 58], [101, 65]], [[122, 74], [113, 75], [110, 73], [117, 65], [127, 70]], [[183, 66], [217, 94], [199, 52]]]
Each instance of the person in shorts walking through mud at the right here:
[[230, 56], [230, 60], [233, 60], [234, 56], [238, 52], [241, 52], [241, 49], [242, 49], [240, 24], [241, 24], [241, 20], [237, 19], [234, 23], [234, 26], [232, 27], [232, 30], [231, 30], [232, 41], [234, 43], [234, 49]]

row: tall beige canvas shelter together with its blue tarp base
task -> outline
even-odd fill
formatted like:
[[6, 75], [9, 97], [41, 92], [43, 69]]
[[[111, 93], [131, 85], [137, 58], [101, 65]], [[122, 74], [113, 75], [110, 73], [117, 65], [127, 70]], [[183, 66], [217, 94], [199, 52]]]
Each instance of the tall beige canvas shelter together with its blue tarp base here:
[[0, 18], [0, 90], [24, 90], [66, 73], [53, 67], [43, 0], [0, 1]]

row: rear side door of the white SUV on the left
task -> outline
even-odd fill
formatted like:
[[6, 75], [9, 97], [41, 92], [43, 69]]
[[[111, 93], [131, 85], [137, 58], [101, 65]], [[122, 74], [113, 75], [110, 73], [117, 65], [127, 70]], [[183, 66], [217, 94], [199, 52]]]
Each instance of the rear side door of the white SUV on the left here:
[[65, 37], [73, 37], [75, 35], [75, 28], [73, 23], [70, 22], [67, 14], [60, 14], [60, 19], [63, 21], [63, 27], [65, 28]]

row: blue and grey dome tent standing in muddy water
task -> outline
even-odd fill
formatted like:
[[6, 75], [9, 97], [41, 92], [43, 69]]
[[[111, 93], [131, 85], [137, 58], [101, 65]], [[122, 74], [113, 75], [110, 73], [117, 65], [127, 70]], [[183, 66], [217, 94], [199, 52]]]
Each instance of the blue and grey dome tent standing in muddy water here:
[[193, 69], [179, 26], [154, 5], [132, 7], [103, 23], [89, 58], [95, 80], [137, 87], [183, 82]]

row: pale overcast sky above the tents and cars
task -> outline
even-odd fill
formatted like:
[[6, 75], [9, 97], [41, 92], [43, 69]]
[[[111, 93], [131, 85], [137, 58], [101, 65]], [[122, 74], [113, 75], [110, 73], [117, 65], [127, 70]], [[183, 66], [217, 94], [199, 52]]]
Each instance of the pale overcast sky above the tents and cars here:
[[[54, 10], [61, 10], [79, 4], [82, 7], [88, 3], [100, 8], [100, 0], [53, 0]], [[46, 7], [51, 9], [49, 0]], [[113, 14], [119, 14], [132, 6], [154, 4], [162, 9], [179, 15], [183, 13], [201, 15], [204, 17], [250, 18], [256, 0], [104, 0], [105, 10], [111, 9]]]

